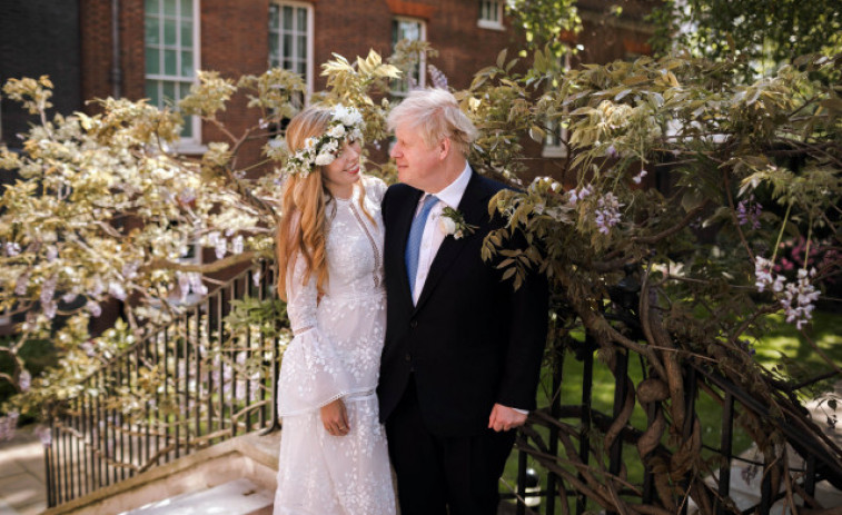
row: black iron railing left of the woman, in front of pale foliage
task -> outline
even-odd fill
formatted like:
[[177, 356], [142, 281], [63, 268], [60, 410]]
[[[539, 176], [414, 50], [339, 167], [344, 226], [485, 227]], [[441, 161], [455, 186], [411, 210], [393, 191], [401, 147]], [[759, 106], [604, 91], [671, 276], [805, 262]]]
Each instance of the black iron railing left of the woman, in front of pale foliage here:
[[[279, 337], [232, 335], [231, 301], [274, 297], [248, 269], [133, 344], [53, 410], [48, 505], [81, 497], [215, 443], [277, 424]], [[278, 316], [280, 319], [280, 316]]]

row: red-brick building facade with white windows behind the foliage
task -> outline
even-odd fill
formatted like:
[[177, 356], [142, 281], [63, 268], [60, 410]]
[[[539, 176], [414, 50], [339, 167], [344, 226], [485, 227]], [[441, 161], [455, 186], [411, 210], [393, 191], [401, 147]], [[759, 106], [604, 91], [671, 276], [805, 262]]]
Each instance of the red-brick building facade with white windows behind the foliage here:
[[[259, 75], [270, 65], [283, 66], [304, 72], [313, 92], [324, 88], [319, 66], [334, 52], [353, 59], [374, 49], [386, 56], [395, 39], [408, 36], [425, 39], [439, 51], [430, 63], [447, 76], [452, 87], [460, 89], [502, 49], [521, 46], [518, 31], [503, 16], [504, 1], [14, 2], [26, 8], [14, 7], [4, 13], [10, 30], [2, 31], [0, 71], [3, 79], [49, 73], [57, 86], [56, 99], [62, 99], [56, 108], [62, 112], [95, 110], [96, 106], [85, 105], [85, 100], [108, 96], [151, 98], [164, 105], [187, 92], [196, 69], [236, 79]], [[622, 17], [608, 13], [608, 4], [617, 3], [623, 7]], [[584, 47], [574, 66], [648, 52], [651, 30], [641, 20], [653, 4], [653, 0], [580, 0], [584, 30], [566, 36]], [[11, 66], [14, 62], [27, 66]], [[26, 115], [9, 100], [2, 107], [2, 139], [11, 143], [11, 135], [26, 127], [21, 121]], [[236, 135], [257, 116], [238, 96], [219, 118]], [[198, 151], [218, 139], [221, 135], [212, 126], [196, 121], [185, 133], [184, 149]], [[531, 152], [542, 152], [538, 143], [527, 146]], [[259, 149], [258, 141], [247, 146], [240, 162], [257, 160]]]

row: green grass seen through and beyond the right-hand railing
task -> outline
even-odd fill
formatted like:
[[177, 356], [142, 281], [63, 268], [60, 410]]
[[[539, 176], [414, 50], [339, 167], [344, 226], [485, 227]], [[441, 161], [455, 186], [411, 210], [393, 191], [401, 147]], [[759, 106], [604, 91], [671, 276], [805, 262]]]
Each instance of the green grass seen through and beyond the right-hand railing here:
[[[833, 367], [815, 351], [810, 343], [801, 336], [793, 325], [785, 323], [782, 316], [771, 315], [767, 317], [766, 321], [769, 323], [769, 331], [754, 344], [755, 360], [760, 365], [769, 369], [773, 369], [776, 366], [783, 366], [790, 375], [798, 378], [815, 377], [833, 369]], [[814, 320], [808, 331], [808, 336], [834, 364], [842, 364], [842, 315], [824, 311], [814, 313]], [[596, 359], [596, 356], [594, 356], [593, 373], [593, 407], [602, 413], [611, 414], [614, 404], [614, 376], [611, 374], [607, 366]], [[628, 375], [635, 385], [637, 385], [643, 378], [642, 364], [635, 354], [632, 354], [632, 359], [630, 360]], [[551, 370], [545, 370], [545, 376], [549, 377]], [[812, 392], [802, 393], [812, 394], [802, 395], [802, 398], [806, 400], [821, 392], [829, 390], [834, 380], [839, 380], [839, 377], [836, 376], [829, 382], [820, 384], [819, 387]], [[563, 367], [562, 404], [580, 404], [582, 402], [582, 363], [577, 362], [574, 356], [568, 353], [565, 355]], [[538, 393], [538, 406], [548, 405], [548, 395], [549, 382], [547, 379], [543, 383], [543, 387]], [[702, 394], [696, 402], [696, 413], [702, 423], [703, 443], [711, 447], [719, 448], [722, 407], [709, 395]], [[577, 420], [566, 422], [577, 425]], [[631, 424], [638, 429], [644, 429], [646, 427], [646, 416], [641, 408], [640, 403], [635, 405]], [[546, 442], [547, 432], [543, 432], [543, 436]], [[592, 442], [601, 440], [601, 438], [602, 435], [595, 435], [592, 438]], [[746, 450], [751, 445], [752, 439], [749, 435], [735, 427], [733, 442], [734, 454], [740, 454]], [[713, 455], [711, 452], [705, 452], [704, 454], [707, 456]], [[628, 479], [632, 483], [641, 484], [643, 481], [643, 464], [640, 462], [636, 448], [634, 446], [625, 445], [623, 457], [624, 464], [627, 468]], [[542, 467], [537, 466], [532, 458], [527, 458], [527, 463], [528, 466], [535, 468], [542, 474]], [[509, 457], [503, 477], [509, 485], [516, 485], [517, 453], [513, 453]]]

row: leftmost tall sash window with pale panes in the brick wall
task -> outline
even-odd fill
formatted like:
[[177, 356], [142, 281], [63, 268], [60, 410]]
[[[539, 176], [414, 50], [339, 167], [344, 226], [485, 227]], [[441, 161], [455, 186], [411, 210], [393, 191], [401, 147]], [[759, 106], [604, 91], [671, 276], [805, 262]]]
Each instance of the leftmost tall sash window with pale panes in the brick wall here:
[[[190, 92], [199, 67], [199, 0], [146, 0], [146, 96], [158, 107], [177, 106]], [[198, 149], [201, 120], [187, 117], [182, 151]]]

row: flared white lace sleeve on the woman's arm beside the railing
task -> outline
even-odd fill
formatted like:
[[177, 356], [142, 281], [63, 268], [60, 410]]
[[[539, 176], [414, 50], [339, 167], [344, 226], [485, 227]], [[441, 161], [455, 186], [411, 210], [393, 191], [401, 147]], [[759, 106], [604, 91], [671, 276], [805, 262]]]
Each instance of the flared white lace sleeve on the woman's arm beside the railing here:
[[295, 337], [284, 353], [278, 383], [281, 416], [318, 409], [353, 392], [336, 347], [319, 328], [316, 277], [303, 284], [305, 271], [299, 255], [287, 280], [287, 315]]

